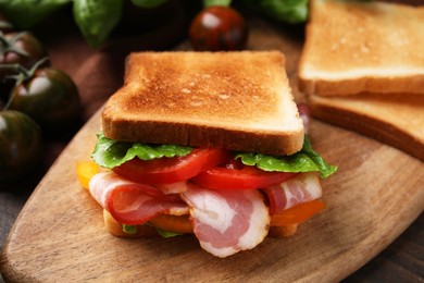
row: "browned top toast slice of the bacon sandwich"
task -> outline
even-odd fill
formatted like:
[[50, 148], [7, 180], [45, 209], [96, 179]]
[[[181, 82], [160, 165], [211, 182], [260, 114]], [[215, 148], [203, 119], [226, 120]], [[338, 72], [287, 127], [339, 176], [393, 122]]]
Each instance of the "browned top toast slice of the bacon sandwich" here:
[[139, 52], [107, 102], [107, 137], [291, 155], [303, 124], [278, 51]]

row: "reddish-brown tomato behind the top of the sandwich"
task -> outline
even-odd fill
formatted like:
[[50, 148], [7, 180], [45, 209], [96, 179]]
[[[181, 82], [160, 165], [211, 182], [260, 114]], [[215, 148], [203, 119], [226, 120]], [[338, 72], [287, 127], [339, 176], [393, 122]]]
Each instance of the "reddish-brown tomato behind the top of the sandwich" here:
[[189, 39], [198, 51], [241, 50], [248, 39], [248, 26], [236, 10], [212, 5], [194, 19]]

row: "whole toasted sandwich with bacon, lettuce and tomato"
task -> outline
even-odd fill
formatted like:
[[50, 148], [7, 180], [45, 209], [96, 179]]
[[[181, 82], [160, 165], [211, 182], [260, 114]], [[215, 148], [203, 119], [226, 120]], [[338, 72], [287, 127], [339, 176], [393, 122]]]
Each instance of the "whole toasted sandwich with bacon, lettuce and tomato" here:
[[337, 168], [312, 149], [284, 64], [278, 51], [130, 53], [88, 184], [108, 231], [194, 234], [224, 258], [321, 211]]

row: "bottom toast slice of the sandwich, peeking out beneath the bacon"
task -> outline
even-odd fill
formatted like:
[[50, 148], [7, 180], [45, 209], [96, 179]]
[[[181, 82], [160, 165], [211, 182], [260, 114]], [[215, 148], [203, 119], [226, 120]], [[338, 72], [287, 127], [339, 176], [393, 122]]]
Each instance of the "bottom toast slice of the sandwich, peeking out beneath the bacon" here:
[[[159, 234], [154, 226], [151, 225], [136, 225], [134, 234], [128, 234], [123, 231], [123, 225], [117, 222], [111, 213], [103, 209], [104, 226], [109, 233], [117, 237], [158, 237]], [[270, 237], [288, 237], [296, 233], [298, 224], [291, 224], [286, 226], [271, 226]]]

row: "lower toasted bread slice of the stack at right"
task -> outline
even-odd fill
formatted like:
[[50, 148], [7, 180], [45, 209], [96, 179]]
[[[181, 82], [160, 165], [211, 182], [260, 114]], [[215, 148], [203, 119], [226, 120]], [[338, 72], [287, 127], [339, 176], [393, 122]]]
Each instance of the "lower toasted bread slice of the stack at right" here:
[[313, 116], [362, 133], [424, 161], [424, 96], [310, 96]]

